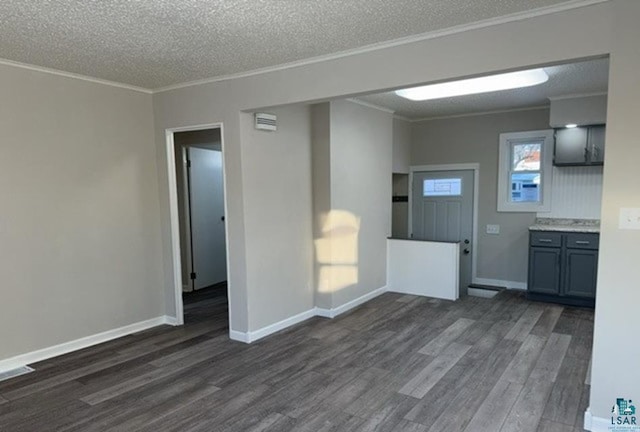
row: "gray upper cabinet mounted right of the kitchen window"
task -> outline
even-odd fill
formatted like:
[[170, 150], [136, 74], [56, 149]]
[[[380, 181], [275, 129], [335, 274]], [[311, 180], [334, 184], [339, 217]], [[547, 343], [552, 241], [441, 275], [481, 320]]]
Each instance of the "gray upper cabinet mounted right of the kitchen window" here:
[[556, 129], [554, 165], [602, 165], [605, 130], [604, 125]]

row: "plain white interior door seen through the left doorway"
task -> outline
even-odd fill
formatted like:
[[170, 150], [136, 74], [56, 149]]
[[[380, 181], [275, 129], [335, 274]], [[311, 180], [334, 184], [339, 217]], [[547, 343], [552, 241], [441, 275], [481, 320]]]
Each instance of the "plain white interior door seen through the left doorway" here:
[[222, 152], [189, 147], [193, 288], [227, 280]]

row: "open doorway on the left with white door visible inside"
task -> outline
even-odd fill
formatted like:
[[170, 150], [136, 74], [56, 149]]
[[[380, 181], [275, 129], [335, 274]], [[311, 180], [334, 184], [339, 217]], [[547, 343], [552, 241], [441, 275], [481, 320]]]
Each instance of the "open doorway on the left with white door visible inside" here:
[[199, 303], [202, 315], [203, 299], [215, 297], [216, 304], [228, 299], [222, 125], [168, 130], [167, 151], [176, 323], [180, 325], [185, 315], [186, 321], [192, 321], [189, 314], [194, 303]]

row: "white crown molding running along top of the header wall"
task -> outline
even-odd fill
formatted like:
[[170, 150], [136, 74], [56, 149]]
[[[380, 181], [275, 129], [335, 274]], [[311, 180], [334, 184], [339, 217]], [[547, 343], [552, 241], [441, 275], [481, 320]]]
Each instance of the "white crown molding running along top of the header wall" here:
[[417, 35], [407, 36], [398, 39], [392, 39], [390, 41], [378, 42], [363, 47], [340, 51], [332, 54], [325, 54], [321, 56], [311, 57], [303, 60], [297, 60], [288, 63], [282, 63], [275, 66], [269, 66], [259, 69], [254, 69], [246, 72], [239, 72], [228, 75], [220, 75], [217, 77], [204, 78], [194, 81], [188, 81], [185, 83], [172, 84], [164, 87], [158, 87], [153, 89], [154, 93], [162, 93], [170, 90], [178, 90], [185, 87], [192, 87], [201, 84], [211, 84], [220, 81], [228, 81], [238, 78], [246, 78], [255, 75], [262, 75], [271, 72], [282, 71], [286, 69], [293, 69], [296, 67], [312, 65], [315, 63], [321, 63], [328, 60], [336, 60], [343, 57], [349, 57], [357, 54], [364, 54], [371, 51], [377, 51], [385, 48], [392, 48], [399, 45], [407, 45], [415, 42], [421, 42], [429, 39], [436, 39], [443, 36], [454, 35], [458, 33], [464, 33], [471, 30], [478, 30], [486, 27], [492, 27], [500, 24], [507, 24], [515, 21], [522, 21], [525, 19], [535, 18], [544, 15], [550, 15], [558, 12], [564, 12], [572, 9], [578, 9], [582, 7], [592, 6], [595, 4], [606, 3], [610, 0], [570, 0], [561, 4], [552, 6], [541, 7], [537, 9], [531, 9], [523, 12], [516, 12], [500, 17], [489, 18], [481, 21], [476, 21], [468, 24], [461, 24], [453, 27], [447, 27], [446, 29], [435, 30], [431, 32], [421, 33]]

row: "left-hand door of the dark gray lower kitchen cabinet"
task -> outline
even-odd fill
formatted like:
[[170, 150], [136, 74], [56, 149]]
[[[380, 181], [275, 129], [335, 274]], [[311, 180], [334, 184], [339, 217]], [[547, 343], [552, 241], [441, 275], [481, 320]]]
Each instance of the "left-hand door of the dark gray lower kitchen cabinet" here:
[[561, 250], [546, 247], [529, 249], [529, 291], [539, 294], [560, 294]]

